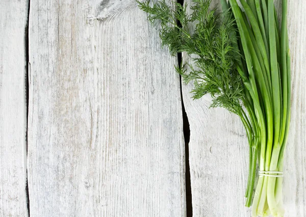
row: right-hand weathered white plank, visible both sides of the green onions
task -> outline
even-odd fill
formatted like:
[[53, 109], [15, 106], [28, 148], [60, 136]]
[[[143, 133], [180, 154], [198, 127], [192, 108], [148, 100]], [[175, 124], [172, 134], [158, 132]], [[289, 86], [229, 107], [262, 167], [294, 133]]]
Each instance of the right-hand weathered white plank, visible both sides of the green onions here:
[[[190, 3], [191, 1], [185, 1]], [[306, 216], [306, 6], [288, 1], [292, 57], [292, 121], [286, 152], [284, 203], [286, 216]], [[250, 216], [244, 207], [248, 144], [239, 118], [217, 108], [210, 97], [192, 100], [192, 84], [183, 85], [190, 123], [189, 161], [193, 216]]]

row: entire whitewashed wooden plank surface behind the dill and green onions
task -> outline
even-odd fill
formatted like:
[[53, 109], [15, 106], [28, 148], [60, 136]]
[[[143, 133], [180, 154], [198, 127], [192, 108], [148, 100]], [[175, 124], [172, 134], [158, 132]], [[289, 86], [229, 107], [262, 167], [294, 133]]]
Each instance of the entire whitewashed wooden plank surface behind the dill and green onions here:
[[[304, 1], [288, 5], [289, 217], [306, 216]], [[134, 0], [3, 0], [0, 11], [0, 216], [191, 216], [188, 157], [193, 216], [250, 216], [239, 119], [190, 99]]]

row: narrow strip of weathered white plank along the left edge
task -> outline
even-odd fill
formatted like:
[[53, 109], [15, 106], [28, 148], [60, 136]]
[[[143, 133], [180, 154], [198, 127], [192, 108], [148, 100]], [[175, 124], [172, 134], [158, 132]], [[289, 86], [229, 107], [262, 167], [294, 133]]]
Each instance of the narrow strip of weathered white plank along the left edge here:
[[28, 216], [27, 18], [28, 1], [0, 1], [0, 216]]

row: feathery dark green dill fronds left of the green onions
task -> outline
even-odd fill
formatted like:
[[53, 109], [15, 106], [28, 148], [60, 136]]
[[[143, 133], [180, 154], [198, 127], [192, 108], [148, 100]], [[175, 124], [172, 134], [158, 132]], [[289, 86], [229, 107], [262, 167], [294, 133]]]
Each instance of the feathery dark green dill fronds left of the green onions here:
[[[172, 55], [186, 52], [190, 57], [189, 63], [176, 70], [185, 83], [194, 82], [193, 98], [210, 94], [211, 107], [224, 107], [242, 116], [244, 87], [235, 64], [239, 50], [233, 46], [234, 19], [221, 15], [216, 8], [210, 10], [211, 0], [193, 0], [190, 15], [187, 4], [173, 3], [171, 8], [164, 0], [138, 3], [148, 13], [150, 22], [160, 23], [162, 45], [167, 45]], [[224, 16], [230, 19], [223, 19]], [[195, 26], [194, 31], [190, 30], [191, 25]]]

